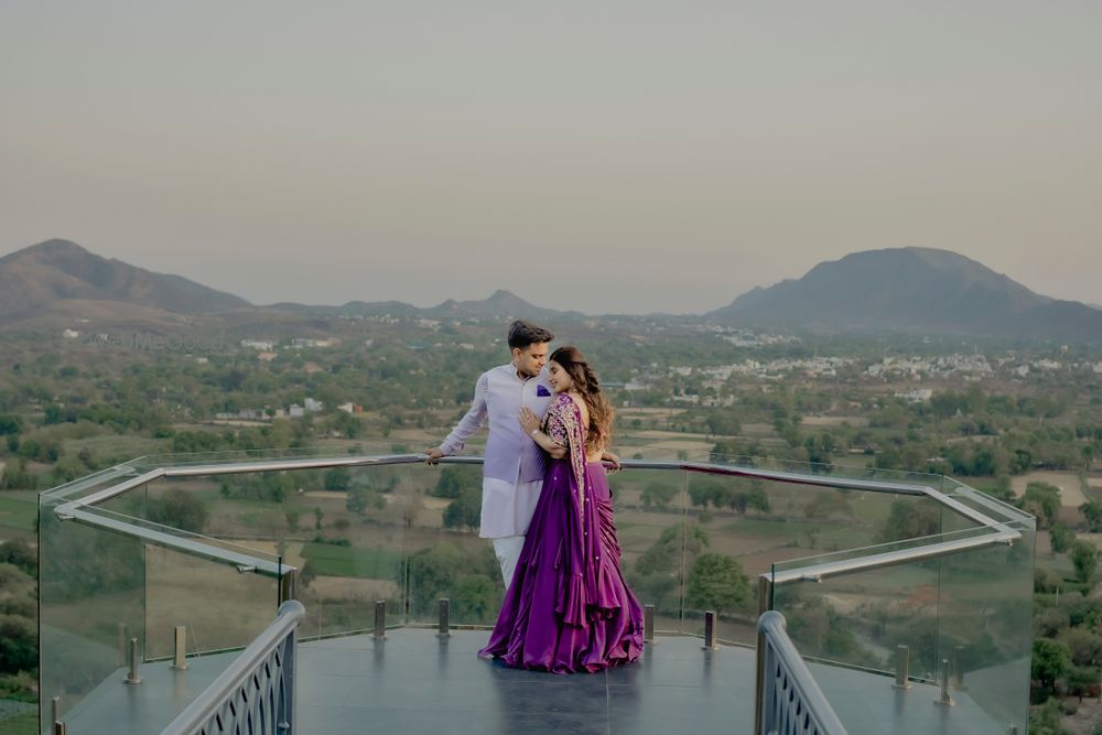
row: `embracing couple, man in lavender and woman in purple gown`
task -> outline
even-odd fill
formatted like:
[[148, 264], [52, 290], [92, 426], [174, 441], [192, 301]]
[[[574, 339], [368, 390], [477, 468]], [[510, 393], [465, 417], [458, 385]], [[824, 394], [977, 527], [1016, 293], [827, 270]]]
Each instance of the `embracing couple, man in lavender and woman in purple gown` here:
[[613, 409], [575, 347], [509, 327], [512, 361], [484, 372], [466, 415], [429, 462], [489, 422], [479, 536], [494, 541], [506, 593], [480, 656], [554, 673], [601, 671], [642, 652], [642, 609], [620, 571], [603, 461]]

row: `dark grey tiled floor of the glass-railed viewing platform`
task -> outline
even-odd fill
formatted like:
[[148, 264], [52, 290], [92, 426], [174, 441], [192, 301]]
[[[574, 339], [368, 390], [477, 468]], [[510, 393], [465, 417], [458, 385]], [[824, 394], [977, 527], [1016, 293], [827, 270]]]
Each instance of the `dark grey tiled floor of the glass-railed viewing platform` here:
[[[700, 639], [663, 637], [636, 664], [596, 674], [554, 675], [479, 659], [486, 631], [401, 628], [376, 641], [353, 636], [299, 648], [299, 732], [360, 733], [749, 733], [754, 651], [705, 651]], [[66, 718], [69, 732], [156, 733], [225, 667], [227, 657], [190, 659], [187, 671], [147, 664], [143, 683], [105, 682]], [[906, 692], [890, 680], [812, 664], [828, 699], [860, 733], [1005, 734], [966, 693], [941, 707], [937, 690]]]

